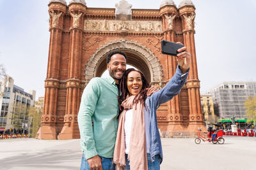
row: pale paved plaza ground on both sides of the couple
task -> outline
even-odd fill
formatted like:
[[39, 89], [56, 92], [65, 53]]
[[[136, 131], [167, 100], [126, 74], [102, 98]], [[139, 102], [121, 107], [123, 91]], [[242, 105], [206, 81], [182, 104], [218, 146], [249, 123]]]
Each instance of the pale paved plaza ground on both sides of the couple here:
[[[256, 138], [224, 136], [224, 145], [194, 138], [162, 138], [161, 169], [255, 169]], [[79, 139], [0, 141], [0, 169], [79, 169], [82, 152]]]

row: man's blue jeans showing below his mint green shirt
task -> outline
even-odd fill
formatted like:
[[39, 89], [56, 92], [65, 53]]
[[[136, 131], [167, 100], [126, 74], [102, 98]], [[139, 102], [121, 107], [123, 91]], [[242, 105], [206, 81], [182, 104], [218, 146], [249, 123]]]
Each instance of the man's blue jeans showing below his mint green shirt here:
[[[113, 164], [112, 158], [104, 158], [104, 157], [100, 157], [100, 158], [101, 158], [101, 164], [102, 164], [103, 170], [115, 170], [115, 164]], [[80, 170], [90, 170], [88, 161], [84, 157], [84, 154], [81, 160]]]

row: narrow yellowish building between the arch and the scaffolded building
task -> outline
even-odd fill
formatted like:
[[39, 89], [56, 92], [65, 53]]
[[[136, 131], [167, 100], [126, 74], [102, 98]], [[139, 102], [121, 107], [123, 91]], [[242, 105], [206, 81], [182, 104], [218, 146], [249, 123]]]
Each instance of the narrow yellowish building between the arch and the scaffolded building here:
[[204, 115], [205, 125], [207, 123], [215, 123], [218, 119], [218, 115], [214, 115], [214, 105], [211, 94], [200, 94], [202, 114]]

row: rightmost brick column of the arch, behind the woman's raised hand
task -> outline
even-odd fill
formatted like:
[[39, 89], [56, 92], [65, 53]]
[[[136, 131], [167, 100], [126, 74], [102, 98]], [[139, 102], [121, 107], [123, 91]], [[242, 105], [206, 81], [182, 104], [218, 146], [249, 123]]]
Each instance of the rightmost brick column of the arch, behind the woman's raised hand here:
[[204, 117], [201, 111], [200, 103], [200, 81], [198, 80], [198, 72], [196, 65], [195, 39], [194, 39], [194, 19], [195, 7], [183, 6], [179, 9], [182, 18], [182, 32], [184, 36], [184, 45], [187, 46], [191, 53], [191, 66], [186, 86], [188, 88], [189, 97], [189, 131], [197, 131], [197, 127], [205, 130]]

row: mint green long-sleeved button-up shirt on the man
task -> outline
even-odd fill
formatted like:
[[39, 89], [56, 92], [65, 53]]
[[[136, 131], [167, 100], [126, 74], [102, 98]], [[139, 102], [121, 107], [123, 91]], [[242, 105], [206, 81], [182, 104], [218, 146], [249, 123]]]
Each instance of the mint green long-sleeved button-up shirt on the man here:
[[81, 148], [86, 159], [95, 155], [113, 158], [118, 127], [117, 96], [118, 88], [110, 76], [92, 78], [84, 89], [78, 125]]

